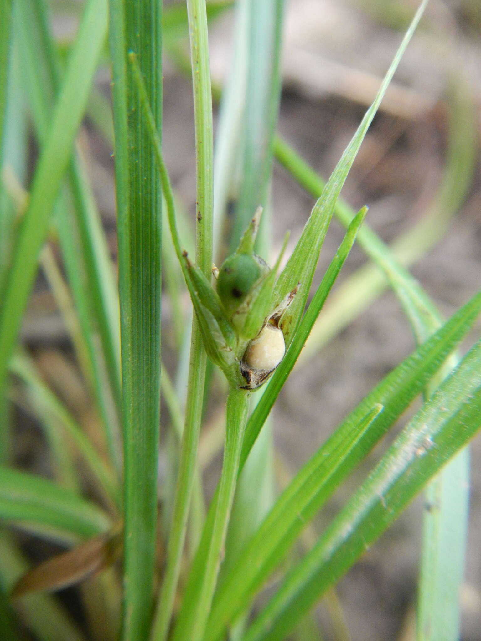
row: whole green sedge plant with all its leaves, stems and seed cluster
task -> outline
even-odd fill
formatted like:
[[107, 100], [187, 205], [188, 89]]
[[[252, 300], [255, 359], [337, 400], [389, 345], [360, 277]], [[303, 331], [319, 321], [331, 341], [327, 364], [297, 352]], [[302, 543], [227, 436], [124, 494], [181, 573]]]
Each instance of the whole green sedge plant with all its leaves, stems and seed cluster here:
[[[212, 96], [218, 92], [210, 79], [208, 24], [230, 4], [187, 0], [186, 6], [174, 4], [163, 12], [153, 0], [111, 0], [108, 5], [106, 0], [89, 0], [65, 68], [44, 0], [19, 0], [13, 12], [10, 3], [5, 4], [0, 151], [4, 123], [21, 131], [21, 122], [15, 121], [21, 112], [9, 108], [15, 98], [12, 70], [21, 53], [40, 156], [27, 193], [19, 187], [21, 171], [11, 149], [4, 149], [4, 164], [12, 164], [15, 179], [3, 174], [7, 178], [0, 190], [1, 229], [10, 230], [11, 245], [0, 274], [1, 442], [6, 453], [8, 405], [21, 405], [44, 429], [55, 479], [15, 469], [4, 454], [0, 518], [71, 549], [28, 570], [10, 532], [0, 531], [2, 633], [4, 638], [18, 638], [15, 617], [22, 617], [41, 641], [85, 638], [47, 591], [97, 576], [90, 584], [94, 598], [86, 592], [83, 597], [98, 638], [321, 638], [316, 621], [308, 618], [314, 605], [434, 479], [428, 491], [438, 511], [426, 515], [417, 638], [455, 641], [468, 515], [466, 445], [481, 427], [481, 347], [478, 342], [464, 357], [453, 356], [453, 351], [481, 311], [481, 292], [444, 321], [406, 265], [435, 242], [440, 226], [446, 226], [466, 196], [474, 165], [472, 113], [463, 103], [462, 118], [452, 121], [455, 144], [439, 195], [444, 208], [426, 217], [423, 238], [414, 249], [401, 239], [391, 251], [367, 226], [367, 207], [355, 213], [340, 194], [427, 0], [420, 4], [373, 104], [327, 181], [276, 137], [282, 0], [266, 1], [262, 8], [248, 0], [235, 3], [233, 76], [221, 100], [214, 159]], [[103, 63], [107, 30], [113, 124], [108, 104], [92, 89], [94, 72]], [[33, 34], [38, 49], [32, 44]], [[185, 35], [190, 40], [189, 64], [181, 47]], [[185, 226], [180, 224], [178, 198], [162, 151], [163, 49], [192, 77], [193, 251], [185, 250]], [[83, 154], [74, 148], [86, 112], [115, 149], [118, 296]], [[269, 185], [274, 154], [316, 196], [285, 265], [287, 233], [272, 265], [266, 250], [273, 220]], [[455, 175], [459, 167], [460, 176]], [[239, 194], [235, 224], [225, 242], [221, 217], [233, 191]], [[308, 303], [333, 216], [346, 226], [346, 234]], [[15, 217], [21, 219], [18, 226]], [[161, 242], [162, 228], [168, 235]], [[40, 256], [46, 242], [58, 243], [64, 272], [48, 247]], [[259, 470], [266, 472], [272, 454], [268, 440], [259, 447], [267, 417], [298, 358], [308, 354], [303, 348], [311, 333], [314, 351], [333, 331], [322, 329], [321, 312], [356, 242], [380, 271], [355, 275], [351, 290], [341, 297], [341, 313], [344, 304], [355, 316], [388, 283], [412, 324], [416, 348], [256, 515], [246, 501], [252, 497], [249, 482], [260, 478]], [[218, 267], [212, 264], [213, 247], [221, 256]], [[62, 310], [92, 397], [102, 451], [49, 388], [35, 360], [17, 345], [38, 263]], [[161, 264], [178, 316], [176, 347], [185, 354], [190, 349], [177, 381], [163, 365], [161, 372]], [[178, 296], [181, 281], [193, 310], [190, 335]], [[354, 297], [357, 307], [352, 305], [353, 288], [360, 292], [360, 298]], [[335, 317], [331, 324], [334, 331], [342, 326]], [[180, 388], [185, 383], [183, 399]], [[205, 399], [214, 383], [226, 390], [223, 463], [205, 509], [199, 438]], [[170, 445], [160, 445], [161, 391], [172, 423]], [[419, 410], [366, 481], [316, 536], [314, 545], [300, 559], [293, 556], [292, 549], [321, 507], [420, 395]], [[163, 428], [166, 423], [162, 421]], [[159, 502], [158, 454], [163, 448], [171, 458], [168, 469], [173, 478], [161, 487]], [[77, 459], [94, 488], [90, 496], [82, 492]], [[269, 483], [267, 473], [262, 478]], [[459, 526], [446, 537], [443, 524], [450, 519]], [[455, 546], [456, 555], [445, 553], [448, 545]], [[276, 590], [257, 601], [276, 573]]]

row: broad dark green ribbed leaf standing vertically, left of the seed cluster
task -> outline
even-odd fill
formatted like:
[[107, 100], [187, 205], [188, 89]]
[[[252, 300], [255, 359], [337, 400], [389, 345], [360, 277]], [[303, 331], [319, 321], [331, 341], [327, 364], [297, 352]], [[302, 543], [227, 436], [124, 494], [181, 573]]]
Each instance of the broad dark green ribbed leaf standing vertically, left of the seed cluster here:
[[128, 55], [133, 52], [139, 60], [155, 126], [160, 131], [161, 39], [161, 3], [110, 0], [124, 429], [122, 638], [128, 641], [148, 638], [153, 606], [162, 228], [155, 158]]

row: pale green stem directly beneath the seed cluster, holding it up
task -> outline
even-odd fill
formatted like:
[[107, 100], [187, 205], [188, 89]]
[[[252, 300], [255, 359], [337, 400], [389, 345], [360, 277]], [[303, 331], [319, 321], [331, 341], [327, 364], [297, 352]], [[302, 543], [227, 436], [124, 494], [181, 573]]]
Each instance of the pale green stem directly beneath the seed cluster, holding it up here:
[[189, 635], [190, 641], [201, 641], [203, 638], [212, 597], [214, 596], [237, 483], [237, 474], [239, 473], [242, 440], [247, 422], [248, 399], [249, 392], [237, 388], [230, 390], [227, 399], [226, 445], [221, 480], [219, 482], [219, 494], [217, 495], [217, 509], [215, 511], [207, 562], [199, 590], [194, 627]]

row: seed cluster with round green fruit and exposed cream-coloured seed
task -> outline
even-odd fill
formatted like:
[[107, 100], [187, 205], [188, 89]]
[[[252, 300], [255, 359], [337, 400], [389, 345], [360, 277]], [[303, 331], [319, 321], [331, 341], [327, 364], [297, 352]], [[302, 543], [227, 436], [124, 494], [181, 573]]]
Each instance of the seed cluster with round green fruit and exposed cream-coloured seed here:
[[254, 253], [262, 208], [249, 223], [237, 250], [221, 269], [212, 268], [217, 291], [187, 253], [185, 277], [202, 329], [208, 357], [219, 365], [235, 387], [256, 389], [269, 378], [283, 358], [285, 345], [278, 319], [295, 292], [274, 307], [273, 291], [288, 235], [274, 265]]

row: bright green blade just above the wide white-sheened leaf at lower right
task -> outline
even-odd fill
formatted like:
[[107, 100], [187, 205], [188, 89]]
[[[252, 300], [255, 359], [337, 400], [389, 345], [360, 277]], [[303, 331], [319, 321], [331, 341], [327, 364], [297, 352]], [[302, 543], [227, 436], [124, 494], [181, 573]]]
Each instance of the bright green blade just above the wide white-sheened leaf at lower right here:
[[[480, 294], [478, 294], [473, 301], [468, 303], [455, 317], [448, 321], [443, 329], [439, 330], [438, 336], [444, 335], [444, 337], [447, 338], [450, 334], [448, 326], [451, 325], [451, 329], [455, 326], [459, 328], [458, 322], [460, 318], [464, 317], [466, 319], [466, 312], [468, 312], [468, 315], [470, 315], [473, 310], [479, 312], [481, 309], [480, 303], [481, 297]], [[468, 324], [464, 325], [461, 330], [462, 333], [457, 340], [460, 340], [462, 335], [468, 331], [472, 322], [473, 317], [468, 321]], [[413, 355], [407, 359], [407, 362], [410, 362], [411, 366], [416, 363], [416, 360], [418, 360], [418, 363], [423, 362], [423, 356], [421, 356], [421, 354], [426, 355], [426, 360], [429, 358], [426, 351], [427, 345], [426, 343], [419, 347], [418, 351], [414, 353], [416, 356]], [[451, 347], [452, 346], [451, 344]], [[444, 352], [444, 356], [446, 355], [447, 352]], [[419, 360], [419, 358], [421, 360]], [[220, 591], [217, 599], [215, 599], [212, 620], [210, 622], [210, 630], [213, 635], [214, 631], [215, 634], [219, 633], [222, 629], [222, 624], [232, 619], [236, 612], [240, 612], [242, 610], [242, 604], [245, 606], [248, 598], [262, 587], [267, 576], [269, 576], [270, 572], [280, 560], [282, 560], [289, 545], [294, 542], [303, 526], [314, 517], [326, 498], [332, 493], [333, 489], [341, 483], [346, 474], [353, 469], [356, 462], [359, 462], [359, 460], [366, 455], [367, 451], [373, 447], [378, 438], [389, 428], [389, 425], [392, 424], [396, 416], [391, 415], [389, 419], [387, 419], [387, 417], [392, 412], [392, 408], [396, 403], [400, 401], [401, 403], [405, 403], [398, 406], [396, 413], [399, 415], [407, 403], [410, 402], [410, 399], [412, 399], [412, 394], [418, 394], [423, 390], [423, 385], [426, 384], [426, 378], [421, 372], [419, 372], [420, 380], [418, 381], [414, 378], [410, 380], [407, 379], [404, 383], [401, 381], [401, 372], [403, 369], [405, 374], [409, 371], [409, 367], [405, 369], [407, 362], [401, 363], [401, 365], [399, 365], [394, 372], [391, 372], [367, 397], [372, 403], [371, 407], [375, 407], [376, 404], [385, 406], [384, 412], [375, 415], [369, 422], [365, 422], [364, 428], [361, 429], [360, 426], [358, 426], [352, 429], [353, 423], [351, 420], [353, 417], [357, 415], [359, 420], [362, 420], [360, 415], [357, 414], [359, 407], [364, 407], [366, 415], [369, 416], [367, 410], [369, 405], [365, 404], [365, 399], [365, 401], [351, 413], [350, 417], [342, 423], [333, 436], [328, 439], [326, 444], [321, 447], [316, 455], [298, 472], [289, 488], [287, 488], [278, 499], [269, 517], [267, 517], [255, 536], [251, 538], [248, 545], [242, 551], [242, 563], [238, 563], [237, 567], [226, 578], [224, 585], [219, 588]], [[394, 380], [396, 379], [399, 385], [398, 391], [401, 394], [400, 397], [396, 397], [396, 384], [394, 384]], [[424, 381], [424, 383], [422, 381]], [[403, 390], [405, 385], [406, 387]], [[404, 398], [403, 392], [407, 394]], [[387, 419], [386, 422], [385, 419]], [[366, 419], [364, 420], [366, 421]], [[348, 425], [351, 425], [351, 428], [345, 432], [344, 430]], [[341, 433], [344, 433], [346, 440], [340, 438]], [[354, 458], [351, 458], [351, 456]], [[313, 481], [313, 479], [315, 480]], [[291, 512], [287, 512], [289, 506], [291, 506]], [[287, 516], [286, 512], [291, 514], [291, 517]], [[251, 581], [250, 585], [249, 580]], [[213, 638], [217, 637], [214, 636]]]

